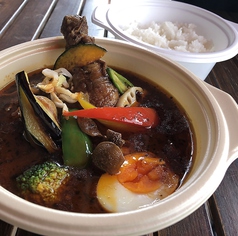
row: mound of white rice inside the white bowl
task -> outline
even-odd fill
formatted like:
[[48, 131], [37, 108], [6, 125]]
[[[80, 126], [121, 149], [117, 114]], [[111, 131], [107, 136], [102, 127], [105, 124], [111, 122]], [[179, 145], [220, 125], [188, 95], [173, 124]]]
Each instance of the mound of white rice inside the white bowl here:
[[182, 52], [204, 53], [212, 52], [214, 47], [211, 40], [196, 33], [196, 25], [186, 23], [151, 22], [142, 26], [137, 21], [123, 26], [122, 30], [138, 40], [161, 48]]

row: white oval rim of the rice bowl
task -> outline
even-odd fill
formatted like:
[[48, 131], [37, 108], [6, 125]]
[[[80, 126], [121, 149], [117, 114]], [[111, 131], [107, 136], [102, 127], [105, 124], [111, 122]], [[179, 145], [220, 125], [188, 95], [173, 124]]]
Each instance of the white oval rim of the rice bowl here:
[[[165, 7], [165, 8], [174, 8], [178, 9], [179, 11], [184, 11], [184, 14], [186, 14], [187, 11], [191, 12], [192, 14], [202, 18], [206, 18], [207, 20], [211, 21], [213, 24], [218, 25], [226, 35], [232, 34], [232, 36], [229, 38], [229, 45], [226, 49], [211, 52], [211, 53], [186, 53], [186, 52], [179, 52], [174, 50], [168, 50], [159, 48], [156, 46], [153, 46], [148, 43], [144, 43], [140, 40], [137, 40], [135, 38], [132, 38], [129, 34], [123, 32], [123, 30], [118, 26], [118, 22], [115, 19], [115, 16], [118, 14], [118, 11], [123, 9], [128, 9], [129, 7], [134, 8], [136, 10], [136, 7]], [[116, 35], [118, 35], [121, 39], [135, 43], [136, 45], [146, 47], [149, 50], [152, 50], [154, 52], [160, 53], [162, 55], [168, 56], [171, 59], [179, 62], [189, 62], [189, 63], [211, 63], [211, 62], [219, 62], [219, 61], [225, 61], [227, 59], [230, 59], [234, 57], [238, 53], [238, 31], [236, 28], [229, 24], [227, 21], [225, 21], [220, 16], [207, 11], [203, 8], [190, 5], [183, 2], [175, 2], [175, 1], [143, 1], [138, 2], [137, 4], [127, 4], [127, 5], [112, 5], [109, 7], [109, 9], [106, 12], [106, 20], [109, 26], [112, 29], [112, 32]]]

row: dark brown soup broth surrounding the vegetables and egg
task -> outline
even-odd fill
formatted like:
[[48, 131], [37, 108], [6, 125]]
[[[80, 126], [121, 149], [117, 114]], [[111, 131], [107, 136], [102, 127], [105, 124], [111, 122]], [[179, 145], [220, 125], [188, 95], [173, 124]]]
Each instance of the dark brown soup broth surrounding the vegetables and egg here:
[[[176, 105], [173, 97], [167, 96], [154, 85], [139, 76], [120, 71], [134, 85], [147, 90], [142, 100], [143, 106], [154, 108], [160, 117], [160, 125], [143, 133], [122, 134], [134, 151], [150, 151], [163, 158], [170, 168], [179, 175], [181, 181], [189, 171], [193, 154], [193, 137], [190, 123], [183, 110]], [[43, 78], [41, 73], [30, 75], [30, 81]], [[23, 123], [19, 116], [16, 86], [13, 82], [0, 92], [0, 184], [10, 192], [19, 195], [16, 177], [29, 167], [54, 160], [62, 164], [61, 151], [49, 154], [42, 147], [31, 146], [23, 137]], [[97, 139], [92, 139], [93, 143]], [[96, 186], [101, 171], [90, 165], [84, 169], [72, 168], [70, 181], [60, 193], [57, 203], [45, 203], [40, 199], [26, 197], [27, 200], [54, 209], [82, 212], [103, 213], [96, 196]]]

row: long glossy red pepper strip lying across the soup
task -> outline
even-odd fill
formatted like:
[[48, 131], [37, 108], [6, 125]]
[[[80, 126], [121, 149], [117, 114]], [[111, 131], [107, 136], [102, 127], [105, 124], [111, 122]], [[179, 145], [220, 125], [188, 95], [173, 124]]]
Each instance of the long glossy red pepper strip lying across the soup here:
[[144, 128], [153, 128], [159, 123], [156, 111], [147, 107], [96, 107], [64, 112], [63, 115], [113, 121]]

